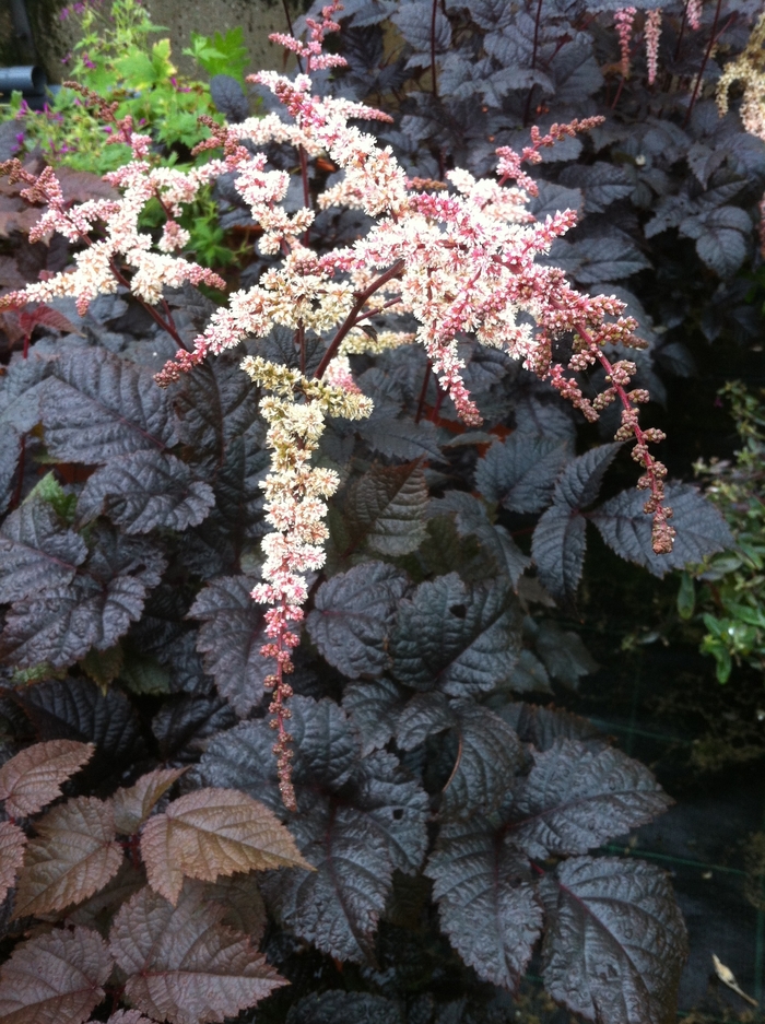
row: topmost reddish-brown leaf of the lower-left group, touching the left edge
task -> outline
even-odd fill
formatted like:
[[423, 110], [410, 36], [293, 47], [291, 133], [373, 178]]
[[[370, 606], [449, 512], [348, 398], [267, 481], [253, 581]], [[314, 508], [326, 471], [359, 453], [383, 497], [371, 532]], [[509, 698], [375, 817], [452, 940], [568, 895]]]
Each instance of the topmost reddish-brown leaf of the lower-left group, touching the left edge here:
[[92, 743], [50, 740], [27, 746], [0, 768], [0, 800], [10, 817], [26, 817], [61, 796], [61, 782], [93, 756]]

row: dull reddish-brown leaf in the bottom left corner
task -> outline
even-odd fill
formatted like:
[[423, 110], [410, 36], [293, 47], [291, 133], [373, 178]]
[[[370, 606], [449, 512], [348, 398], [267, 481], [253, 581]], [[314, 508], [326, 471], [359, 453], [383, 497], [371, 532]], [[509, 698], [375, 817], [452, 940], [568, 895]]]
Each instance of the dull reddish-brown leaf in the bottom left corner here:
[[114, 962], [95, 931], [57, 929], [17, 945], [0, 968], [2, 1024], [82, 1024]]

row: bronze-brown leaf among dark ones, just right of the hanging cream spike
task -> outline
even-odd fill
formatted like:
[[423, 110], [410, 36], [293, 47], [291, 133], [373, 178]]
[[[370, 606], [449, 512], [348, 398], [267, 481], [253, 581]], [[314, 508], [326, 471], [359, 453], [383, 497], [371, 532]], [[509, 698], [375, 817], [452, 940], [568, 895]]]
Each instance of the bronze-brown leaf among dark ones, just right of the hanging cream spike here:
[[427, 484], [417, 462], [375, 466], [349, 490], [345, 515], [353, 546], [382, 555], [415, 551], [425, 535]]

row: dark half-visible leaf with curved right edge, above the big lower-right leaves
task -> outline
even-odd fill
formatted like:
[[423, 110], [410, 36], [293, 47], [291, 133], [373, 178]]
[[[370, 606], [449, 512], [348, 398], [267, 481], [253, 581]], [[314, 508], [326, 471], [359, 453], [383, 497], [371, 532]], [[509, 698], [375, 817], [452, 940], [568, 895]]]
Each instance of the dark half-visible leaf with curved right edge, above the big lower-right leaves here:
[[451, 702], [458, 737], [457, 760], [442, 795], [442, 817], [489, 813], [513, 787], [523, 750], [510, 727], [472, 701]]

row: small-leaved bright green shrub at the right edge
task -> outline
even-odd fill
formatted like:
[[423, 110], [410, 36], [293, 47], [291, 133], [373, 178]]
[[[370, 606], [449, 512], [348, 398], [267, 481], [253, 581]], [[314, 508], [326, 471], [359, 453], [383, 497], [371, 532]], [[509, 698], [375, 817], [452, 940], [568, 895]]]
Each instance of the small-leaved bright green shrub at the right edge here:
[[734, 664], [765, 672], [765, 398], [738, 381], [721, 393], [743, 447], [732, 462], [698, 462], [696, 470], [708, 480], [707, 495], [726, 517], [734, 544], [683, 576], [678, 611], [683, 619], [694, 611], [702, 616], [702, 650], [715, 658], [717, 678], [726, 683]]

